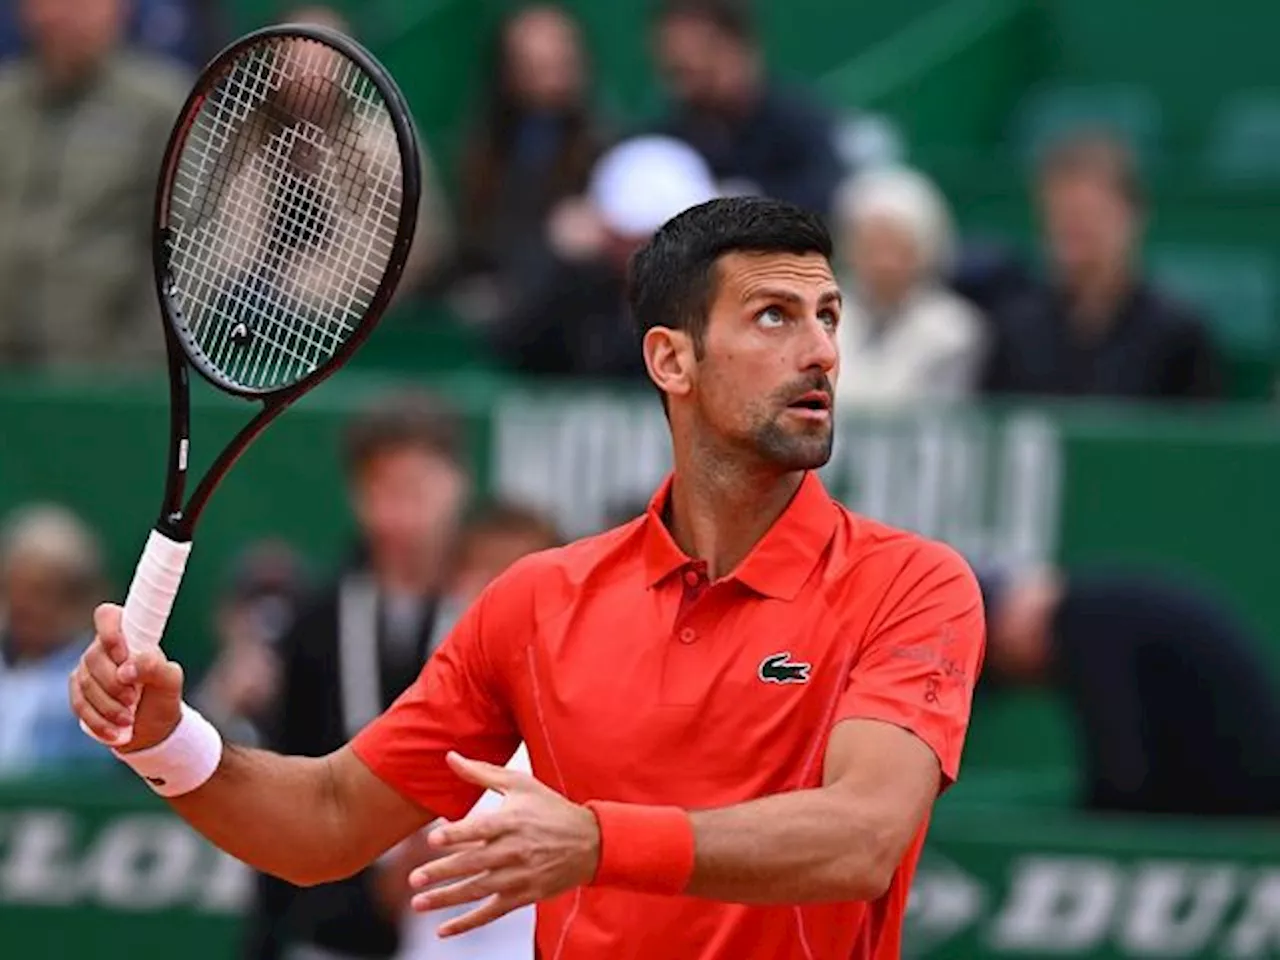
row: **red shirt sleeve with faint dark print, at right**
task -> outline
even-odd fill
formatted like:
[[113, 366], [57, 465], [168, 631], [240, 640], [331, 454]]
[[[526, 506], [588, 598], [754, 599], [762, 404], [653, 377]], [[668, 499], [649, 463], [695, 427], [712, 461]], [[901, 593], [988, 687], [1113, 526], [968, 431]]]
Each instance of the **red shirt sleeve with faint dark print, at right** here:
[[982, 594], [964, 559], [927, 543], [879, 595], [836, 710], [910, 731], [933, 750], [946, 783], [960, 772], [986, 644]]

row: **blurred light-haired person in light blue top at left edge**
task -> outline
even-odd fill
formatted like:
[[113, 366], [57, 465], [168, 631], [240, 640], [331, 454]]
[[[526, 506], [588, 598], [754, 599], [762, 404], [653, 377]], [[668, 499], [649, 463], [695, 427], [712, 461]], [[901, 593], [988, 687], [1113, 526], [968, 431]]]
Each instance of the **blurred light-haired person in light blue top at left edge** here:
[[27, 507], [0, 531], [0, 773], [110, 769], [67, 709], [101, 576], [93, 534], [61, 507]]

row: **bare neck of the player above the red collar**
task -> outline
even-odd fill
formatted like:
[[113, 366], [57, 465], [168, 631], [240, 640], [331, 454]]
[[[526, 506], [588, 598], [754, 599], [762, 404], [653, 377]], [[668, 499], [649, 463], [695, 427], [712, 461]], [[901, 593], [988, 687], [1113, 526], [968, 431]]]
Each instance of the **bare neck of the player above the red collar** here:
[[[682, 462], [684, 461], [684, 462]], [[671, 535], [685, 553], [707, 563], [717, 580], [733, 571], [782, 516], [804, 471], [744, 468], [710, 454], [676, 458]]]

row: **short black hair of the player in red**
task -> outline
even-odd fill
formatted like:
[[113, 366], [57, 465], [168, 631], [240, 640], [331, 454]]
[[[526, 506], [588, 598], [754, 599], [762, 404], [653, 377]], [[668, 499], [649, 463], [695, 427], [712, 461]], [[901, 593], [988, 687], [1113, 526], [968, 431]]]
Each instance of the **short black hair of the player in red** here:
[[794, 204], [728, 197], [672, 218], [631, 257], [627, 303], [643, 337], [654, 326], [686, 330], [701, 351], [716, 264], [726, 253], [820, 253], [831, 260], [822, 219]]

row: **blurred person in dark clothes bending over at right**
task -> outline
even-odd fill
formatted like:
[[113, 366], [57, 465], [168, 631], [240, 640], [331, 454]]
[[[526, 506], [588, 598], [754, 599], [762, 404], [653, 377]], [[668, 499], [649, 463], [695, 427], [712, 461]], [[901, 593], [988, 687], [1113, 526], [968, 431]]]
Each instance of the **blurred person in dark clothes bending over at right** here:
[[1260, 639], [1230, 611], [1149, 573], [979, 580], [987, 676], [1065, 699], [1088, 809], [1280, 814], [1280, 687]]

